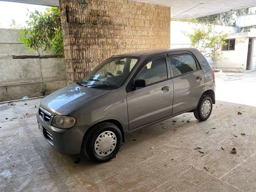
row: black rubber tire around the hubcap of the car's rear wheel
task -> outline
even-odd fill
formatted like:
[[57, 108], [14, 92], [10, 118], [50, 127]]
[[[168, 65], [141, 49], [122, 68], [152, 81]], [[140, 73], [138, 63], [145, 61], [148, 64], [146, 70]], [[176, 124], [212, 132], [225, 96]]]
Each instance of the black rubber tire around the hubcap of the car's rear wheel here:
[[[202, 106], [204, 104], [204, 101], [210, 101], [211, 103], [211, 108], [210, 111], [208, 111], [206, 114], [202, 114]], [[198, 119], [199, 121], [205, 121], [207, 120], [212, 114], [212, 99], [210, 96], [208, 95], [202, 95], [201, 99], [199, 100], [199, 103], [197, 105], [197, 107], [194, 109], [194, 116], [196, 117], [196, 119]]]

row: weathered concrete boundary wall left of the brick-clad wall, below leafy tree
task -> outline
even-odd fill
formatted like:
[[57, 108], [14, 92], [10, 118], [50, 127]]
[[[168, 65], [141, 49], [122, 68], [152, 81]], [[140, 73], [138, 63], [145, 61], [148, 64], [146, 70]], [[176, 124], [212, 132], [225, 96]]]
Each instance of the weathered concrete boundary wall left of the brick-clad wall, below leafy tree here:
[[18, 41], [20, 30], [0, 29], [0, 102], [43, 96], [67, 86], [66, 63], [49, 52], [32, 52]]

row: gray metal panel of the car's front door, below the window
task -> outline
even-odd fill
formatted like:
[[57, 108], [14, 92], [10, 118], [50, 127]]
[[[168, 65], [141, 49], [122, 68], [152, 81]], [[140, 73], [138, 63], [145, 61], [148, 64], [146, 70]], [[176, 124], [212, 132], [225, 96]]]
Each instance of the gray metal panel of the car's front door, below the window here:
[[[162, 91], [167, 86], [168, 91]], [[172, 115], [172, 79], [127, 94], [129, 131]]]

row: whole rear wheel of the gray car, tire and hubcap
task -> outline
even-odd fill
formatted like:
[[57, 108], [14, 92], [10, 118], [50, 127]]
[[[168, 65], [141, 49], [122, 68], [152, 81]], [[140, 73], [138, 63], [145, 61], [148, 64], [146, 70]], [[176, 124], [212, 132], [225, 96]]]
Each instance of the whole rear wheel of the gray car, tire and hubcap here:
[[212, 114], [212, 99], [208, 95], [203, 95], [194, 109], [194, 116], [199, 121], [207, 120]]

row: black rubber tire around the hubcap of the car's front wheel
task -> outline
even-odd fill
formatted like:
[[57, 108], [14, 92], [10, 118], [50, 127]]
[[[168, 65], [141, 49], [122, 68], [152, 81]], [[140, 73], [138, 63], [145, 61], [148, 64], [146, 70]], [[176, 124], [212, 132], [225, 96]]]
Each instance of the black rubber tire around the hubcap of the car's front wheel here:
[[[107, 156], [99, 156], [95, 149], [94, 144], [98, 136], [102, 135], [104, 132], [113, 132], [116, 135], [115, 148]], [[107, 136], [107, 135], [106, 135]], [[106, 137], [107, 138], [107, 137]], [[112, 142], [112, 141], [111, 141]], [[85, 137], [83, 143], [84, 154], [91, 160], [97, 163], [103, 163], [112, 159], [118, 153], [122, 143], [122, 133], [120, 129], [115, 124], [109, 122], [103, 122], [92, 127], [91, 131]], [[108, 143], [107, 143], [108, 144]], [[107, 152], [106, 152], [107, 153]], [[102, 154], [105, 155], [105, 154]]]

